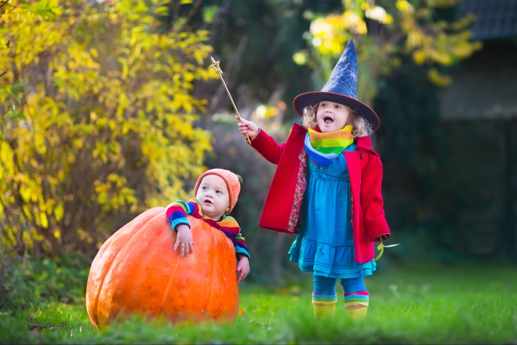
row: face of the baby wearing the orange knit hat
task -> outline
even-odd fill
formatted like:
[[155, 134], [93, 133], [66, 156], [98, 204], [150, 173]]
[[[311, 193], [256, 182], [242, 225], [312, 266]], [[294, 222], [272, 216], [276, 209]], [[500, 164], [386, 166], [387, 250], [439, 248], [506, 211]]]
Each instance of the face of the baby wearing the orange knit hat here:
[[201, 205], [203, 214], [215, 221], [219, 221], [221, 216], [230, 210], [230, 193], [224, 180], [217, 175], [206, 175], [199, 189], [196, 199]]

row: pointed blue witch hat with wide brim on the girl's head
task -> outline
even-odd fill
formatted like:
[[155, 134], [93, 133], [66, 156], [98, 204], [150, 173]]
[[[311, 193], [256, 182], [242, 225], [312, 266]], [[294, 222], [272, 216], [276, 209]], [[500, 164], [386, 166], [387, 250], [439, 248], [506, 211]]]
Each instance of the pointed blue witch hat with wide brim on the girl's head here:
[[372, 125], [374, 131], [379, 128], [377, 114], [368, 105], [357, 100], [357, 55], [353, 39], [346, 45], [323, 89], [296, 96], [293, 107], [301, 117], [303, 108], [321, 101], [336, 102], [357, 109], [357, 112]]

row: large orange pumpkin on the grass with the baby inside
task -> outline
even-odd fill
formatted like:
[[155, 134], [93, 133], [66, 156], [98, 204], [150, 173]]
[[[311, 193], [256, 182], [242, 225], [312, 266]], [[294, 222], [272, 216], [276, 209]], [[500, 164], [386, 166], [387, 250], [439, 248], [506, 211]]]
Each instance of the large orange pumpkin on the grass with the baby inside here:
[[194, 253], [174, 250], [176, 232], [163, 207], [147, 210], [106, 241], [88, 276], [86, 310], [95, 327], [120, 312], [173, 322], [235, 320], [239, 309], [235, 249], [223, 232], [187, 216]]

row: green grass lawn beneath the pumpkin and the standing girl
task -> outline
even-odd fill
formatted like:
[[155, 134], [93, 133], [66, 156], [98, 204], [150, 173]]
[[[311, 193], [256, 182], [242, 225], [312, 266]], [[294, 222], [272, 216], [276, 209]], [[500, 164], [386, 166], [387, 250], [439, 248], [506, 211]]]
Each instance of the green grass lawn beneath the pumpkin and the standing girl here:
[[[98, 332], [84, 305], [3, 311], [2, 343], [517, 343], [515, 266], [390, 268], [365, 279], [366, 325], [314, 324], [311, 277], [282, 288], [241, 287], [234, 324], [171, 325], [133, 317]], [[338, 294], [340, 291], [338, 284]], [[47, 328], [31, 331], [39, 323]], [[60, 325], [60, 323], [66, 324]], [[50, 327], [55, 329], [51, 330]]]

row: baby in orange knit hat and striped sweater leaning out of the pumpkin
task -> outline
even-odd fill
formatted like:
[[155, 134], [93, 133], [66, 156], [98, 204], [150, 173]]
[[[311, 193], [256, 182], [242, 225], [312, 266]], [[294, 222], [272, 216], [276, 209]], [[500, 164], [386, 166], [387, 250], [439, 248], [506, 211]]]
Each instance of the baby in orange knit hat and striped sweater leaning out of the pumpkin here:
[[174, 250], [179, 247], [181, 255], [186, 256], [194, 252], [194, 242], [192, 241], [190, 223], [186, 218], [187, 214], [203, 219], [208, 225], [221, 230], [232, 240], [238, 261], [238, 283], [246, 278], [250, 272], [250, 255], [237, 221], [226, 214], [234, 208], [241, 184], [242, 178], [232, 171], [211, 169], [205, 171], [197, 179], [194, 187], [195, 198], [188, 202], [176, 200], [166, 208], [169, 223], [178, 233]]

